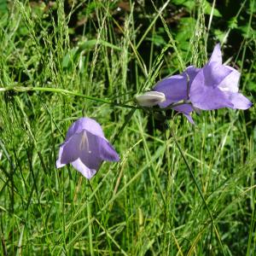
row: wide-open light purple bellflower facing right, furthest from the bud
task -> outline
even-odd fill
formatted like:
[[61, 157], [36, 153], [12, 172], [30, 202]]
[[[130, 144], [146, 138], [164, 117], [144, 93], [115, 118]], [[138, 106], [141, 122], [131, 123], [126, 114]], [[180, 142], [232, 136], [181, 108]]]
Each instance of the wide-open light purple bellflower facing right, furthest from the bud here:
[[247, 97], [238, 92], [240, 73], [222, 64], [220, 45], [213, 49], [207, 65], [196, 74], [189, 90], [189, 101], [195, 108], [247, 109], [252, 106]]

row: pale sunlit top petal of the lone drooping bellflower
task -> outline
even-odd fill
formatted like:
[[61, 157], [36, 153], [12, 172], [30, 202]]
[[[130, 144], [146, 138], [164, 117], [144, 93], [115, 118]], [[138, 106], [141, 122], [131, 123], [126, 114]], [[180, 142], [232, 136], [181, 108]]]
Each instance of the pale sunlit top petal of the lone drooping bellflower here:
[[101, 125], [99, 125], [94, 119], [84, 117], [78, 119], [70, 126], [67, 131], [66, 141], [72, 137], [73, 134], [80, 133], [83, 130], [90, 131], [90, 133], [96, 136], [104, 137]]

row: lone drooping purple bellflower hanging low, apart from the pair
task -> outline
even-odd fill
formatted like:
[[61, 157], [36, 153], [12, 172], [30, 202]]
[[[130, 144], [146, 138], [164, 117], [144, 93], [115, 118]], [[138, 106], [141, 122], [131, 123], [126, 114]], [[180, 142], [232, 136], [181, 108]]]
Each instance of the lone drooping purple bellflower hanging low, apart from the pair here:
[[65, 143], [61, 144], [57, 168], [71, 163], [84, 177], [93, 177], [103, 160], [119, 161], [119, 155], [104, 137], [102, 127], [96, 120], [80, 118], [67, 131]]

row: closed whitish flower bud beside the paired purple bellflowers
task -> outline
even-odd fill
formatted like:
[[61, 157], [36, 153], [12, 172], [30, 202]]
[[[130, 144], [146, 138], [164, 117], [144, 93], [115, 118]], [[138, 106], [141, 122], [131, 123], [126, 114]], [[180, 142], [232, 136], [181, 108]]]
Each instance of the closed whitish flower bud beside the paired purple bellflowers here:
[[135, 96], [138, 105], [142, 107], [153, 107], [160, 102], [166, 102], [166, 96], [159, 91], [147, 91], [143, 95]]

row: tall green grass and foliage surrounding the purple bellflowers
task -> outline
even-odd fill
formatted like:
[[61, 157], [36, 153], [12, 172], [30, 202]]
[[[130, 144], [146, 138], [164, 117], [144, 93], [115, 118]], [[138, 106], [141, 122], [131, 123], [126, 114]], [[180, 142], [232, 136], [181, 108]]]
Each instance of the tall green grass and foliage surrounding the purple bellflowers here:
[[[166, 129], [122, 106], [219, 41], [253, 101], [255, 1], [236, 2], [0, 2], [1, 255], [255, 254], [255, 108]], [[55, 168], [82, 116], [120, 155], [90, 181]]]

